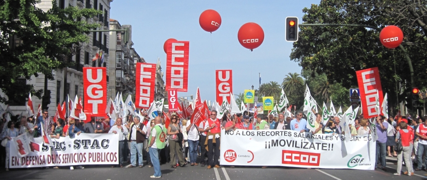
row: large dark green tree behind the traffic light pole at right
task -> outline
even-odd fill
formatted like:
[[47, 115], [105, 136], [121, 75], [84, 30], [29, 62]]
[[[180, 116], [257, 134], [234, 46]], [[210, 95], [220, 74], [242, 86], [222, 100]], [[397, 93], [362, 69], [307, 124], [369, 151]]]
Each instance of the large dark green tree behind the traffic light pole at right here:
[[[416, 72], [415, 84], [426, 87], [427, 66], [426, 1], [413, 0], [322, 0], [304, 8], [304, 23], [365, 24], [383, 28], [394, 24], [404, 32], [403, 46]], [[328, 82], [344, 88], [357, 87], [355, 71], [378, 67], [383, 92], [404, 99], [411, 89], [410, 68], [401, 49], [388, 49], [380, 43], [379, 31], [365, 27], [300, 26], [291, 60], [304, 70], [325, 74]], [[401, 84], [402, 88], [397, 88]], [[389, 107], [396, 107], [389, 98]]]

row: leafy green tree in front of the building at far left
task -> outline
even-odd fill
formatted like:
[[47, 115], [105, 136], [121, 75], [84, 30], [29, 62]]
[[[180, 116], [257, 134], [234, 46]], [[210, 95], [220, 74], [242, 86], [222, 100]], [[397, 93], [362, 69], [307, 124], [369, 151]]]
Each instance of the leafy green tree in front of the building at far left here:
[[[7, 96], [0, 102], [13, 104], [28, 97], [41, 97], [43, 90], [21, 83], [39, 73], [53, 80], [52, 70], [73, 65], [69, 61], [81, 42], [87, 42], [90, 29], [99, 24], [86, 20], [102, 11], [67, 7], [61, 9], [56, 0], [43, 11], [35, 7], [40, 0], [0, 1], [0, 88]], [[18, 38], [18, 39], [17, 39]], [[20, 41], [19, 41], [20, 40]], [[18, 43], [16, 43], [18, 42]]]

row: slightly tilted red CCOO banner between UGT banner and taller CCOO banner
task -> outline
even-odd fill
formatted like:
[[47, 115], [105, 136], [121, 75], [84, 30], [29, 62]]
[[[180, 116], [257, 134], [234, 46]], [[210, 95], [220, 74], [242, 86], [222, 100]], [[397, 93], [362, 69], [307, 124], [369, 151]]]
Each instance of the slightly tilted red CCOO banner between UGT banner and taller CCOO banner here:
[[135, 88], [135, 107], [150, 107], [154, 101], [154, 87], [156, 81], [156, 64], [136, 63], [136, 88]]

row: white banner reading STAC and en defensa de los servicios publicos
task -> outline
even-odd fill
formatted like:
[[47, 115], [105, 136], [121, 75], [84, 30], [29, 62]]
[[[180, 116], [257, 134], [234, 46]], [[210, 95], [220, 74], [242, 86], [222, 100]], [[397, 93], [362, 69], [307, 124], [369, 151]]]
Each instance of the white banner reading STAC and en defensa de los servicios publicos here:
[[75, 165], [117, 165], [118, 134], [80, 134], [74, 138], [52, 138], [53, 145], [43, 145], [42, 138], [29, 141], [29, 154], [20, 157], [10, 141], [10, 168], [35, 168]]

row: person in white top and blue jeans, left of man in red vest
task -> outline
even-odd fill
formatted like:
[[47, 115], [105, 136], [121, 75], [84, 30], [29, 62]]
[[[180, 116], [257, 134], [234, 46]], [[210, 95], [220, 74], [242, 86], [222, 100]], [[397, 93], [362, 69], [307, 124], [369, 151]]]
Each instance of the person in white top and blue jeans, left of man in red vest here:
[[[202, 124], [202, 123], [200, 123]], [[192, 124], [191, 121], [187, 121], [187, 142], [188, 142], [188, 149], [190, 151], [190, 165], [191, 166], [197, 166], [199, 164], [196, 163], [197, 161], [197, 147], [199, 146], [199, 130], [196, 127], [195, 124]]]

